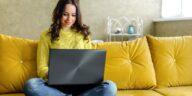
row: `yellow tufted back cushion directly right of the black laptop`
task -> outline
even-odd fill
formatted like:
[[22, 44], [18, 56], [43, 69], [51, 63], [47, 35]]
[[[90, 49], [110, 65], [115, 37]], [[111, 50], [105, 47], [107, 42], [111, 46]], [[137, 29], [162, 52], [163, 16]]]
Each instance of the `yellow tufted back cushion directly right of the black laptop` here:
[[114, 81], [118, 89], [149, 89], [156, 85], [145, 37], [133, 41], [96, 43], [93, 46], [106, 49], [104, 78]]

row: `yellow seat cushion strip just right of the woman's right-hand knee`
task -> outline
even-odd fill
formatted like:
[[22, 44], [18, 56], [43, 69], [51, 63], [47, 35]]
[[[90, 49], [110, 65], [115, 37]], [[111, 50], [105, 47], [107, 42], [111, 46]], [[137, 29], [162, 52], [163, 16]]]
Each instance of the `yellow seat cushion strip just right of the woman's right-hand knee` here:
[[163, 96], [153, 90], [119, 90], [117, 96]]

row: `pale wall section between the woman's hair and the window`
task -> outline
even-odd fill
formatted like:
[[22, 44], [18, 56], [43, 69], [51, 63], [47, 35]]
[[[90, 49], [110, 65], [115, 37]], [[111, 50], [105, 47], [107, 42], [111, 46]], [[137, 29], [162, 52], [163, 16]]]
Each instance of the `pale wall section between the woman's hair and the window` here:
[[81, 0], [80, 4], [83, 20], [90, 25], [94, 38], [105, 40], [107, 16], [139, 16], [144, 21], [144, 34], [152, 34], [152, 19], [160, 17], [161, 0]]

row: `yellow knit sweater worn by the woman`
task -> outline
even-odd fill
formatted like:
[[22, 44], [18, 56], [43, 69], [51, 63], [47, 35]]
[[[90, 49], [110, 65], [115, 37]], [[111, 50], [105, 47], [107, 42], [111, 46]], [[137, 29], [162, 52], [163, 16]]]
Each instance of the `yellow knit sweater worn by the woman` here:
[[37, 73], [40, 78], [47, 79], [49, 49], [91, 49], [90, 39], [84, 40], [81, 33], [75, 30], [61, 29], [59, 40], [51, 42], [51, 37], [45, 31], [41, 34], [37, 49]]

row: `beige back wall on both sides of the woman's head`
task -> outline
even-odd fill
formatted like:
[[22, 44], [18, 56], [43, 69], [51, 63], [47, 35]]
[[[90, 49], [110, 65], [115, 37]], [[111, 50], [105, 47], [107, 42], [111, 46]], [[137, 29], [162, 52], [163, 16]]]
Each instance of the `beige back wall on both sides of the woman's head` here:
[[[57, 1], [0, 0], [0, 33], [38, 39], [49, 27]], [[93, 39], [105, 40], [107, 16], [139, 16], [144, 20], [144, 33], [152, 33], [152, 19], [160, 16], [161, 0], [80, 0], [80, 4]]]

